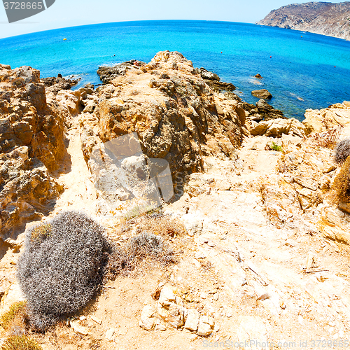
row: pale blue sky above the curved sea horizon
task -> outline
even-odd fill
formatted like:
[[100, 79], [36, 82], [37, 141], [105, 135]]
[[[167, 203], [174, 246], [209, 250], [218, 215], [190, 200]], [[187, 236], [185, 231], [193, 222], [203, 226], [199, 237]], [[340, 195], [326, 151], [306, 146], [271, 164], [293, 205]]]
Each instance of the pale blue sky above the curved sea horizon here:
[[270, 10], [293, 2], [293, 0], [56, 0], [42, 13], [11, 24], [8, 23], [5, 9], [0, 3], [0, 38], [62, 27], [130, 20], [222, 20], [255, 23], [264, 18]]

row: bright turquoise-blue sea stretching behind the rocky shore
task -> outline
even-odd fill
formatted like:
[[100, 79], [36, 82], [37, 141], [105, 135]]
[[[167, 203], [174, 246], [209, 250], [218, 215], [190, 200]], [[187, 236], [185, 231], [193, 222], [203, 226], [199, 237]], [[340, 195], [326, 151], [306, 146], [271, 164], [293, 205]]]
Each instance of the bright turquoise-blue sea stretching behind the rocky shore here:
[[350, 100], [350, 41], [246, 23], [163, 20], [41, 31], [1, 39], [0, 63], [33, 66], [42, 77], [78, 75], [85, 85], [101, 83], [102, 64], [149, 62], [160, 50], [182, 52], [218, 73], [246, 102], [258, 100], [251, 90], [267, 88], [275, 108], [300, 120], [305, 109]]

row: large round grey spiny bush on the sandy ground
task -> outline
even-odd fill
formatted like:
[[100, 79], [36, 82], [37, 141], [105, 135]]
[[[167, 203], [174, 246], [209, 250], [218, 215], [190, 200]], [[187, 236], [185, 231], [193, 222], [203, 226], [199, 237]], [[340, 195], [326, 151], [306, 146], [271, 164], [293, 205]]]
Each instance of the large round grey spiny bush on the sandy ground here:
[[78, 211], [62, 212], [27, 232], [18, 281], [34, 328], [45, 330], [92, 299], [109, 249], [104, 228]]

